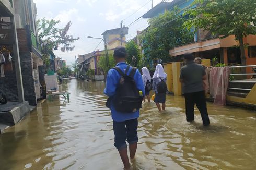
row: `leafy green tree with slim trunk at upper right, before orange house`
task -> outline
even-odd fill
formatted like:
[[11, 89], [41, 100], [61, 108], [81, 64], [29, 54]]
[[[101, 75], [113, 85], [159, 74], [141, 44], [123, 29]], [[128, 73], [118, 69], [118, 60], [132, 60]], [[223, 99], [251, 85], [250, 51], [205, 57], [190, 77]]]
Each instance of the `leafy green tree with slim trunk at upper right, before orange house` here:
[[209, 30], [213, 34], [224, 35], [220, 38], [235, 35], [239, 41], [242, 65], [246, 65], [245, 44], [243, 37], [256, 34], [256, 1], [255, 0], [195, 0], [184, 15], [190, 20], [184, 23], [188, 29]]

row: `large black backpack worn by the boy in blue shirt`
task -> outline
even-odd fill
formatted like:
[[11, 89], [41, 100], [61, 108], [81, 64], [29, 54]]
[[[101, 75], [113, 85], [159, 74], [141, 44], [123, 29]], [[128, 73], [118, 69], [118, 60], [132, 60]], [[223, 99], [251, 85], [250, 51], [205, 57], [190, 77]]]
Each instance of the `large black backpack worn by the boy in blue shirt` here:
[[118, 112], [132, 113], [142, 108], [143, 97], [139, 95], [139, 90], [133, 78], [137, 70], [132, 67], [131, 72], [127, 75], [130, 66], [127, 66], [125, 73], [119, 68], [114, 67], [121, 75], [116, 93], [113, 98], [113, 106]]

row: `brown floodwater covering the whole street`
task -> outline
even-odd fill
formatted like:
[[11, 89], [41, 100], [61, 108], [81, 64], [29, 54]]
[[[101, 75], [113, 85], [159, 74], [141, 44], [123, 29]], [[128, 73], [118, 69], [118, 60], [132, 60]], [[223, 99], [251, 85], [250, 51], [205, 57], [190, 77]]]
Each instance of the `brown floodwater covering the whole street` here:
[[[65, 80], [71, 93], [45, 101], [0, 135], [0, 169], [122, 169], [103, 82]], [[132, 169], [256, 169], [256, 112], [208, 103], [211, 126], [185, 121], [182, 97], [167, 111], [143, 103]]]

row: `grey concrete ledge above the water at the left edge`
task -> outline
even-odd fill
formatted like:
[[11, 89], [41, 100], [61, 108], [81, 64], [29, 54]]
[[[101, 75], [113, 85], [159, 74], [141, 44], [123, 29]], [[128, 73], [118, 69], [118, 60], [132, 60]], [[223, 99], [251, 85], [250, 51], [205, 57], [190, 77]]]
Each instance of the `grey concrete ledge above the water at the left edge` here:
[[28, 112], [31, 107], [28, 102], [8, 102], [0, 105], [0, 123], [13, 126], [18, 123]]

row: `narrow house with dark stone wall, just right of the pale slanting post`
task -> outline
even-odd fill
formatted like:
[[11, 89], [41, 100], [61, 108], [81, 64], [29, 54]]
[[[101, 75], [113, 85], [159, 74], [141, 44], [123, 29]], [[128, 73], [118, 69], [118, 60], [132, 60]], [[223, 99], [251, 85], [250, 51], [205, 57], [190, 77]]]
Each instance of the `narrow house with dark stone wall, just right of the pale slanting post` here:
[[[33, 0], [14, 0], [25, 100], [36, 106], [46, 91], [41, 43], [37, 32], [37, 7]], [[42, 91], [43, 90], [43, 91]]]

